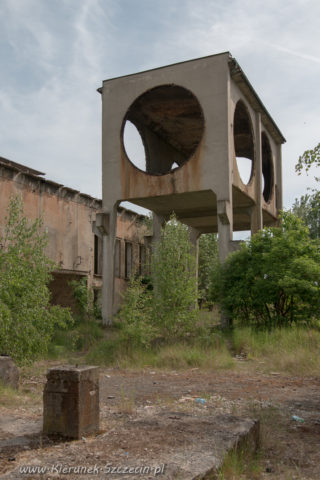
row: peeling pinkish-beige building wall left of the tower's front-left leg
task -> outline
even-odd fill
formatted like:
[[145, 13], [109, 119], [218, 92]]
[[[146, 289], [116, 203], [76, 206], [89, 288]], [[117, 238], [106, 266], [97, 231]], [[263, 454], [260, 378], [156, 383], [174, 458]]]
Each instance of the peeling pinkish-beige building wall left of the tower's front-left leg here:
[[[43, 229], [49, 238], [46, 254], [59, 267], [59, 273], [53, 274], [53, 301], [73, 306], [67, 279], [87, 276], [89, 284], [93, 283], [92, 221], [101, 208], [101, 201], [14, 165], [0, 159], [0, 232], [3, 232], [10, 197], [21, 195], [25, 216], [32, 220], [42, 217]], [[59, 280], [60, 291], [62, 284], [67, 287], [63, 296], [57, 291]]]

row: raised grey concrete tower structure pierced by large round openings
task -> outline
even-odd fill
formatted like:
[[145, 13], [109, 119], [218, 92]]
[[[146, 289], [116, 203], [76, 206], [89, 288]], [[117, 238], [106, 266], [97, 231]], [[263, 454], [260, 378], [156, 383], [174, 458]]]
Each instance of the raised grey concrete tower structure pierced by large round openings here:
[[[113, 314], [114, 212], [120, 201], [154, 213], [155, 237], [174, 211], [193, 237], [218, 232], [224, 261], [233, 232], [257, 232], [282, 208], [280, 130], [225, 52], [106, 80], [102, 96], [103, 318]], [[126, 122], [140, 133], [145, 169], [128, 157]], [[238, 158], [251, 175], [240, 177]]]

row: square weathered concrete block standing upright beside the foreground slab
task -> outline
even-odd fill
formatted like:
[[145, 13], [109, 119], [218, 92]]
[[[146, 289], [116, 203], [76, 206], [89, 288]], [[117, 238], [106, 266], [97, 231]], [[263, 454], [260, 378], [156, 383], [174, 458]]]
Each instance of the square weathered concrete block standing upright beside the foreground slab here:
[[48, 370], [43, 392], [43, 433], [79, 439], [99, 430], [99, 368]]

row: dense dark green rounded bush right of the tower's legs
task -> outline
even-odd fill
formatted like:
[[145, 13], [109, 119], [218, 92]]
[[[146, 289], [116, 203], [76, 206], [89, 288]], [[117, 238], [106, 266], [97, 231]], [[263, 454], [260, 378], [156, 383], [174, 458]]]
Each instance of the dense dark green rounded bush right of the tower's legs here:
[[215, 282], [223, 309], [245, 324], [271, 328], [319, 318], [319, 249], [292, 213], [242, 244]]

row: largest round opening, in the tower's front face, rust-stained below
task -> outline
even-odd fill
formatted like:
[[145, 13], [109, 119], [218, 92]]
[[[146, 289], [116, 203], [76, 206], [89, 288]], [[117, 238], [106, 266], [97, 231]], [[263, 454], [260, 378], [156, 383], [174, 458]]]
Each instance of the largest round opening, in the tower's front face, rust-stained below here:
[[197, 98], [186, 88], [162, 85], [132, 103], [123, 121], [122, 142], [135, 167], [165, 175], [189, 160], [203, 131]]

